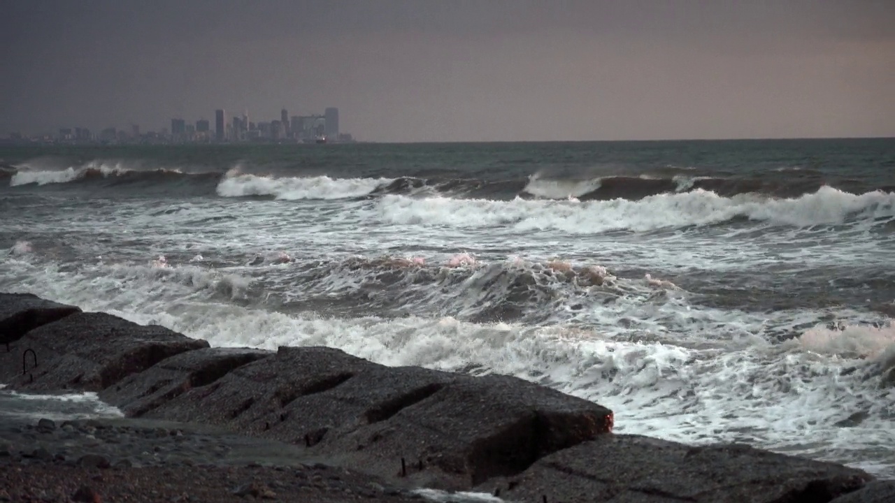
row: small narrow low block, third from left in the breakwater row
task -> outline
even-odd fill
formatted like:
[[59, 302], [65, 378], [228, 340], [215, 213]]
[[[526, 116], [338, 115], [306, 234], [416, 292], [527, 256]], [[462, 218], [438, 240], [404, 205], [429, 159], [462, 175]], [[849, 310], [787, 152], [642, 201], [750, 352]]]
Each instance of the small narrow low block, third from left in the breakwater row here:
[[246, 363], [272, 354], [257, 349], [225, 347], [175, 354], [106, 388], [99, 398], [120, 407], [130, 417], [140, 417], [192, 388], [207, 386]]

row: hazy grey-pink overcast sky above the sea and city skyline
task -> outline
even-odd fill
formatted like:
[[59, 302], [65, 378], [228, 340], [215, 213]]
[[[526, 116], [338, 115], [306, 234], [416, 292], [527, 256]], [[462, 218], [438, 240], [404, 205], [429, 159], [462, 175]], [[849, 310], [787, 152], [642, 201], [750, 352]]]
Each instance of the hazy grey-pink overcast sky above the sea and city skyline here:
[[0, 135], [338, 107], [363, 141], [895, 136], [892, 0], [4, 0]]

